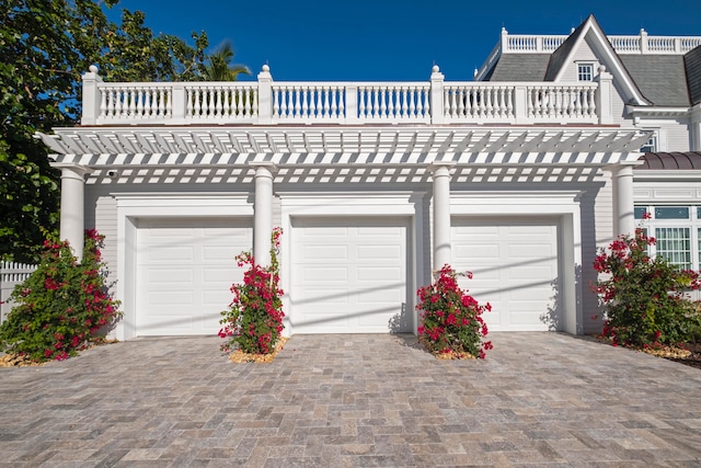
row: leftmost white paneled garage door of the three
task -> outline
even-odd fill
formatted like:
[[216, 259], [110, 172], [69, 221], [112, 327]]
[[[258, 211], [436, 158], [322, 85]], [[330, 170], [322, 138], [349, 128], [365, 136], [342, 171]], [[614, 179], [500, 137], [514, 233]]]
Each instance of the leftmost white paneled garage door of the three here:
[[137, 335], [216, 334], [251, 250], [249, 220], [142, 219], [137, 229]]

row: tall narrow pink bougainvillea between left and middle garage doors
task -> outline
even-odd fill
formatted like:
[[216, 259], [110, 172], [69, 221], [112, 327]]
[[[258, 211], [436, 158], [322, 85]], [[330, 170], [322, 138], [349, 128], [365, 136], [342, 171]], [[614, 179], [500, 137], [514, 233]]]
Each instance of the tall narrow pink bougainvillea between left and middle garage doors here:
[[226, 340], [225, 352], [238, 349], [249, 354], [269, 354], [283, 331], [283, 290], [279, 288], [277, 254], [283, 230], [275, 228], [272, 235], [271, 265], [255, 263], [251, 252], [237, 255], [239, 266], [248, 266], [243, 283], [233, 284], [233, 300], [221, 312], [222, 328], [219, 336]]

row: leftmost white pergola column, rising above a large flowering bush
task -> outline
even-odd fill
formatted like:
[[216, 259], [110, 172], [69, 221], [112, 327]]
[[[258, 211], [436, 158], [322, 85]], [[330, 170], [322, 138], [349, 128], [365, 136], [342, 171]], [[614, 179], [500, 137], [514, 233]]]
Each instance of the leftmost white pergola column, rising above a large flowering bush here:
[[85, 180], [90, 169], [77, 164], [56, 164], [61, 170], [60, 238], [67, 240], [79, 262], [85, 243]]

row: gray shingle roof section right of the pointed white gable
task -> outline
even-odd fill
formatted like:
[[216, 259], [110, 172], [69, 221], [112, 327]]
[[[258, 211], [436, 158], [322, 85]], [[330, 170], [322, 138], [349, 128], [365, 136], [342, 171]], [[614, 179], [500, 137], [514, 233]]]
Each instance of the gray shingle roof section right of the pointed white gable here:
[[640, 91], [654, 105], [689, 106], [683, 56], [619, 55], [619, 57]]

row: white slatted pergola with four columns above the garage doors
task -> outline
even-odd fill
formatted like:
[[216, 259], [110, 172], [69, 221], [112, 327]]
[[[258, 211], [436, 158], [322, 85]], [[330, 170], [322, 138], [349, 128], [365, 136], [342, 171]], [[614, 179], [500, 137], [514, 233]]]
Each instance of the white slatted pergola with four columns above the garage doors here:
[[[82, 249], [84, 175], [111, 183], [254, 181], [254, 255], [267, 259], [274, 183], [434, 181], [434, 266], [450, 260], [450, 180], [613, 174], [614, 235], [634, 230], [633, 165], [648, 135], [618, 127], [99, 126], [38, 134], [61, 169], [61, 238]], [[219, 178], [219, 179], [217, 179]], [[446, 249], [445, 246], [448, 246]]]

